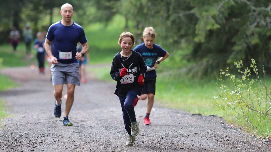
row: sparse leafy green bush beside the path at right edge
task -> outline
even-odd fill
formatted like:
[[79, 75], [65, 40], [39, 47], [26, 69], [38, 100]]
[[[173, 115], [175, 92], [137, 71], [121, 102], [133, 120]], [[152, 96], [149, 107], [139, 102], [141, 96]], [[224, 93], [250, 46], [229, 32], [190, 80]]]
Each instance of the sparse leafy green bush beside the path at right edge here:
[[237, 123], [245, 125], [246, 129], [259, 137], [271, 137], [271, 94], [266, 84], [265, 70], [261, 74], [254, 59], [251, 59], [250, 68], [244, 67], [242, 60], [235, 62], [240, 75], [220, 70], [217, 78], [221, 82], [216, 101], [222, 110], [230, 110], [237, 118]]

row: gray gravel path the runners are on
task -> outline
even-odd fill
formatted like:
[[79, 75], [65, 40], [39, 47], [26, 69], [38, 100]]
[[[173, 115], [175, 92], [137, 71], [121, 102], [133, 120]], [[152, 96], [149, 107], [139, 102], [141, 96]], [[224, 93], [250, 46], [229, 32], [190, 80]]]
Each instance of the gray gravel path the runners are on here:
[[[91, 70], [91, 66], [88, 66]], [[140, 133], [133, 147], [126, 147], [115, 83], [94, 80], [77, 86], [70, 112], [74, 126], [63, 126], [54, 117], [53, 87], [49, 75], [30, 67], [2, 69], [21, 84], [0, 93], [12, 117], [0, 128], [0, 151], [270, 151], [271, 142], [257, 140], [227, 125], [222, 118], [191, 115], [158, 107], [151, 113], [153, 125], [144, 126], [147, 101], [139, 101], [136, 116]], [[48, 72], [47, 72], [48, 73]], [[64, 86], [64, 92], [66, 86]], [[62, 110], [64, 110], [64, 104]], [[63, 117], [63, 116], [62, 116]]]

